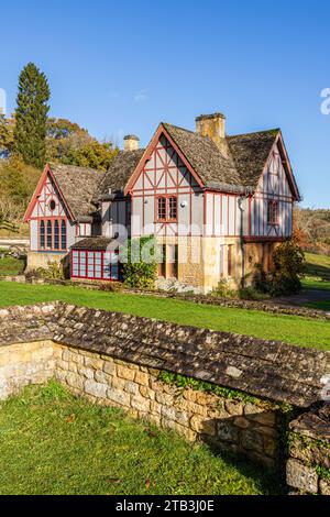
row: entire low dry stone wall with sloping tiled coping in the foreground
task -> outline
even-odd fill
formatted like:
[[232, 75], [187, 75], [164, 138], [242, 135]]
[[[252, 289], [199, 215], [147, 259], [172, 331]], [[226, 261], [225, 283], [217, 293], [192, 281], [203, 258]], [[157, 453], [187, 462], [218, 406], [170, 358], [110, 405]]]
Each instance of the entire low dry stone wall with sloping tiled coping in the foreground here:
[[[95, 403], [270, 468], [289, 403], [304, 415], [290, 425], [287, 480], [304, 493], [329, 492], [329, 405], [319, 407], [329, 372], [329, 352], [275, 341], [63, 302], [0, 309], [0, 398], [55, 376]], [[196, 389], [164, 373], [194, 378]]]

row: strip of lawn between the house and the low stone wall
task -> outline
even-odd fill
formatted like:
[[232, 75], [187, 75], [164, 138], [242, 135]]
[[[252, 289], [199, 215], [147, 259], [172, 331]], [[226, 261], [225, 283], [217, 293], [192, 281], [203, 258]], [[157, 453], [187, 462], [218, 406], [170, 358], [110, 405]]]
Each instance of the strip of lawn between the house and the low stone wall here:
[[0, 307], [54, 300], [330, 350], [330, 321], [81, 287], [0, 283]]

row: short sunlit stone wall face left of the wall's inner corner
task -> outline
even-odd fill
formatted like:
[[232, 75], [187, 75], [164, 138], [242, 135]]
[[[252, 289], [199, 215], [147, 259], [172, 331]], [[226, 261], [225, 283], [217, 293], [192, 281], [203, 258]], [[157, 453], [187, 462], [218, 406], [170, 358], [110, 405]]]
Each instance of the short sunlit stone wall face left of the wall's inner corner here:
[[18, 394], [28, 384], [44, 384], [54, 376], [52, 341], [0, 346], [0, 400]]

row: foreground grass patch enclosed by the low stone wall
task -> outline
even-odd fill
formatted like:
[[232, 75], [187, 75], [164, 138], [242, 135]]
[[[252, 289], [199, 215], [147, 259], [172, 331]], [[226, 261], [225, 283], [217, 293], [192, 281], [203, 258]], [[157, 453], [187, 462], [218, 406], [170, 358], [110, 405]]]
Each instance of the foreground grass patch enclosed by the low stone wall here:
[[278, 494], [264, 469], [75, 398], [52, 381], [0, 404], [0, 494]]

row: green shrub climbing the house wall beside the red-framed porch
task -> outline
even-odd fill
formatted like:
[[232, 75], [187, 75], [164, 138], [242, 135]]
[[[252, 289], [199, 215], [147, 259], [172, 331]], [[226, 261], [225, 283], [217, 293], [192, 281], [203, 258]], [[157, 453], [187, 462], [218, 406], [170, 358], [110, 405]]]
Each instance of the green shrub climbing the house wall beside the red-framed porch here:
[[154, 237], [132, 239], [121, 253], [127, 287], [153, 289], [157, 273], [157, 243]]

